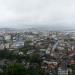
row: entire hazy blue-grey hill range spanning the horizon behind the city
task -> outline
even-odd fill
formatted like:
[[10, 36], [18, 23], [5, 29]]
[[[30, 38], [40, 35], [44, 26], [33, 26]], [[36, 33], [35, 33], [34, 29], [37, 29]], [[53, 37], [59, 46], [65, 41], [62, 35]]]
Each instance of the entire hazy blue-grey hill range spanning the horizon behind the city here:
[[63, 25], [34, 25], [26, 28], [0, 28], [0, 32], [24, 32], [24, 31], [75, 31], [74, 27]]

